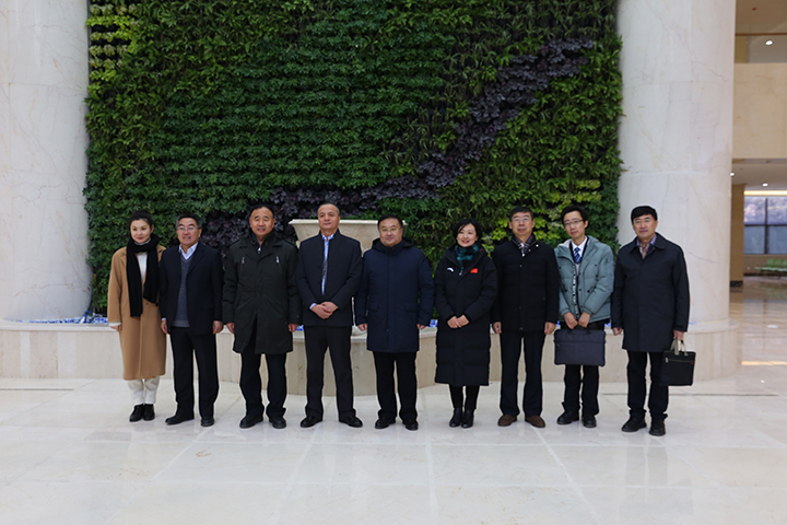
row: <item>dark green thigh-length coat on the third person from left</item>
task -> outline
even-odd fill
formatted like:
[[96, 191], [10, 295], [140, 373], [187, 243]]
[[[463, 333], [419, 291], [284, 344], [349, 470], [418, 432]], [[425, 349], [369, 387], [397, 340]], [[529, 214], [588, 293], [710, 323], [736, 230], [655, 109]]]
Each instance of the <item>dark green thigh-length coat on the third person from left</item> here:
[[[289, 324], [301, 324], [295, 281], [297, 248], [272, 232], [262, 243], [249, 231], [230, 246], [224, 271], [224, 323], [235, 323], [233, 350], [292, 351]], [[256, 328], [255, 341], [251, 335]]]

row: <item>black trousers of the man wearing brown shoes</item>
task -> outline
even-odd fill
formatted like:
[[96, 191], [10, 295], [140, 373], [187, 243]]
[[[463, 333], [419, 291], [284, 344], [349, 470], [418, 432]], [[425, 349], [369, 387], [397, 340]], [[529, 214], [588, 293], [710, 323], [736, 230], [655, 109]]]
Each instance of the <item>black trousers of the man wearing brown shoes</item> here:
[[541, 355], [547, 336], [543, 331], [503, 331], [501, 334], [501, 359], [503, 373], [501, 381], [501, 411], [509, 416], [519, 416], [517, 406], [517, 386], [519, 355], [525, 349], [525, 392], [522, 411], [525, 417], [541, 416], [543, 406], [543, 384], [541, 380]]

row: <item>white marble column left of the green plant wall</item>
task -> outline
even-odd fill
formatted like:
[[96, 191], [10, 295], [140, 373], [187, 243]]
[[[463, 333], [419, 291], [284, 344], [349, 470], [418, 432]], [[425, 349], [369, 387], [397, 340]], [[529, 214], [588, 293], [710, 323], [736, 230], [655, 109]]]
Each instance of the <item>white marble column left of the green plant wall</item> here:
[[90, 302], [87, 3], [0, 0], [0, 318]]

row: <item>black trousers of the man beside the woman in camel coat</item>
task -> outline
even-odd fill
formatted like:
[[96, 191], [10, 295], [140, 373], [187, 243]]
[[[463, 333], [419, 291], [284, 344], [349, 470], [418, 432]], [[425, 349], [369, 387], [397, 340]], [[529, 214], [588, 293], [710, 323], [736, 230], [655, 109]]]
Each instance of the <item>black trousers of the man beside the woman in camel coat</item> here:
[[199, 411], [202, 418], [213, 417], [213, 404], [219, 397], [215, 336], [195, 336], [188, 328], [169, 330], [173, 347], [173, 380], [177, 413], [193, 415], [193, 359], [199, 371]]

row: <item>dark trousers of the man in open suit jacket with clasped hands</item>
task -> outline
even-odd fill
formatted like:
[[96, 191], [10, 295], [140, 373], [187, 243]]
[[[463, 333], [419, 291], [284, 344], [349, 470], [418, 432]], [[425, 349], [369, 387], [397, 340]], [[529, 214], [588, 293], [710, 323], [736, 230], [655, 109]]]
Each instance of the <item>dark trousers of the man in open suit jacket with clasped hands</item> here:
[[339, 418], [355, 416], [353, 408], [352, 363], [350, 362], [351, 326], [305, 326], [306, 416], [322, 418], [325, 352], [330, 349], [337, 385]]

